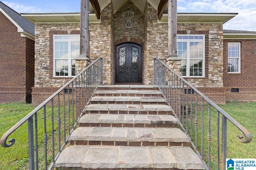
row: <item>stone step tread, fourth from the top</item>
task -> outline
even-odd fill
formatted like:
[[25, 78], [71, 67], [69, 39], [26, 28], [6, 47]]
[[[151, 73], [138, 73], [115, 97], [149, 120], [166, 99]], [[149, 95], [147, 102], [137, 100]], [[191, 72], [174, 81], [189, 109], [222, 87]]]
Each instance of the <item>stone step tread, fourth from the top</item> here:
[[170, 106], [161, 104], [90, 104], [88, 111], [171, 111]]

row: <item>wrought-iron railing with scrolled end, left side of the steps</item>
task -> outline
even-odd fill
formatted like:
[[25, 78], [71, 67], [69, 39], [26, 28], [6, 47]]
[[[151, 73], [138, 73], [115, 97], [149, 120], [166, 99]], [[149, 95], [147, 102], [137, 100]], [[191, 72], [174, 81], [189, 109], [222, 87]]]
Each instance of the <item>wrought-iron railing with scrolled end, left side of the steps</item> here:
[[0, 145], [2, 147], [14, 145], [15, 139], [8, 140], [9, 136], [22, 124], [27, 123], [29, 169], [52, 169], [100, 84], [102, 84], [102, 57], [88, 65], [4, 133]]

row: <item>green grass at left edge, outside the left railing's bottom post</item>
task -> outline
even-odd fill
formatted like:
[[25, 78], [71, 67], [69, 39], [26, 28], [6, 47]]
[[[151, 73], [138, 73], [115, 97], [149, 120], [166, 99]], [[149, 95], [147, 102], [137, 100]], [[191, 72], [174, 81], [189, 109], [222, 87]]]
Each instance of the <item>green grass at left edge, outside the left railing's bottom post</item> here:
[[[0, 104], [0, 136], [34, 109], [30, 104]], [[26, 169], [28, 162], [28, 124], [24, 123], [11, 138], [16, 139], [14, 146], [0, 147], [0, 169]], [[10, 139], [10, 138], [9, 138]]]

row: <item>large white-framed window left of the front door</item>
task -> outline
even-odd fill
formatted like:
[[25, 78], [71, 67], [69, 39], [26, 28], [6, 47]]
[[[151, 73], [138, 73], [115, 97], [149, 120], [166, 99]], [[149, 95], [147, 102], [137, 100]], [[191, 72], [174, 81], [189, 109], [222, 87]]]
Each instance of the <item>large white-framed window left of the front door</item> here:
[[54, 35], [54, 76], [76, 75], [74, 60], [80, 52], [80, 35]]

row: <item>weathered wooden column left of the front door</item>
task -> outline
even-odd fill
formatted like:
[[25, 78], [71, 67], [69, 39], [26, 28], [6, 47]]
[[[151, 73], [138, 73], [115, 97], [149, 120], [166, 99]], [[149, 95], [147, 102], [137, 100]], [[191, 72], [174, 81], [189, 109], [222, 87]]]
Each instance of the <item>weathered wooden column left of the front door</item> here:
[[88, 48], [89, 48], [89, 0], [81, 0], [79, 59], [82, 59], [82, 60], [89, 59]]

